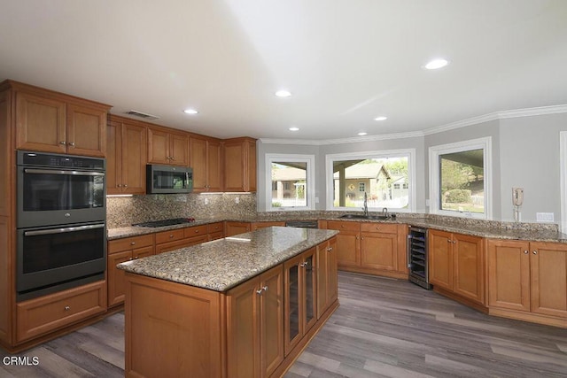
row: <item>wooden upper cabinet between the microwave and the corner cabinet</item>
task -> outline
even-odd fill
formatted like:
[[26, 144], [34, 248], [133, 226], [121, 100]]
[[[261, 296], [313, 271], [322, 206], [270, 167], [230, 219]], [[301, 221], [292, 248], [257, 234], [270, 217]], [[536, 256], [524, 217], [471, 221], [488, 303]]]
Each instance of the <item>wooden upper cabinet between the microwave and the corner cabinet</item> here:
[[193, 168], [193, 191], [222, 191], [221, 141], [190, 136], [190, 166]]

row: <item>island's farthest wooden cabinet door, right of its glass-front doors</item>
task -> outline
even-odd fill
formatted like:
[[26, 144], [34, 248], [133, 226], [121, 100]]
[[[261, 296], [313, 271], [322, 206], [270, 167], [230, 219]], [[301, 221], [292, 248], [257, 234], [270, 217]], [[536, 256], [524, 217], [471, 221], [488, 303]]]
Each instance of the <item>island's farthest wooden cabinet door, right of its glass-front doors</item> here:
[[317, 319], [338, 298], [337, 237], [317, 245]]

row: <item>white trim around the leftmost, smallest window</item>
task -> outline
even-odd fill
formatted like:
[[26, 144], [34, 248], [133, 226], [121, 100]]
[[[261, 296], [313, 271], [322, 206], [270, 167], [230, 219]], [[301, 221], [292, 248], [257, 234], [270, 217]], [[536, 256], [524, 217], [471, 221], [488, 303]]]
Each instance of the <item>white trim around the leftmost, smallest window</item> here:
[[[266, 211], [293, 212], [301, 210], [315, 210], [315, 155], [293, 155], [267, 153], [266, 161]], [[272, 163], [289, 161], [307, 163], [307, 206], [298, 207], [272, 207]]]

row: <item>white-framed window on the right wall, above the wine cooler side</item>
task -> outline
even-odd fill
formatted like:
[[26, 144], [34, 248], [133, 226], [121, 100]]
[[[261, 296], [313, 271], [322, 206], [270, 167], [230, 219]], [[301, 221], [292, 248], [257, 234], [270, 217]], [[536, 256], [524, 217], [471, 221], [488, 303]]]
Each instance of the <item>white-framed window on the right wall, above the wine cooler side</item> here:
[[491, 138], [430, 148], [430, 212], [491, 219]]

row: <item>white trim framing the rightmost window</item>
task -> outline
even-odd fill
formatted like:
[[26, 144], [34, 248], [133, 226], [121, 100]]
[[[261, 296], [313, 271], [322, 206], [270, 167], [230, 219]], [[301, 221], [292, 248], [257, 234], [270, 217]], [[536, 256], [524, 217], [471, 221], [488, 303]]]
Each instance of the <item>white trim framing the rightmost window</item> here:
[[[485, 212], [482, 214], [474, 212], [452, 212], [440, 210], [439, 207], [439, 155], [466, 150], [483, 149], [485, 164]], [[492, 137], [471, 139], [458, 143], [440, 144], [429, 148], [429, 198], [431, 214], [448, 215], [454, 217], [470, 217], [482, 220], [493, 219], [493, 152]]]

